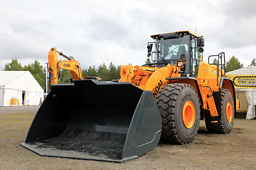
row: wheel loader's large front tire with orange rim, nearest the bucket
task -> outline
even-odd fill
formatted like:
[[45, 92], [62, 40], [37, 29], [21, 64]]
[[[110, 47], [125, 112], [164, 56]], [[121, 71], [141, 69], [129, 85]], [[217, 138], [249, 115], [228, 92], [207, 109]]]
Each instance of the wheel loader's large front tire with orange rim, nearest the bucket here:
[[162, 135], [178, 145], [193, 142], [199, 128], [200, 108], [195, 89], [189, 84], [167, 84], [156, 95], [162, 118]]

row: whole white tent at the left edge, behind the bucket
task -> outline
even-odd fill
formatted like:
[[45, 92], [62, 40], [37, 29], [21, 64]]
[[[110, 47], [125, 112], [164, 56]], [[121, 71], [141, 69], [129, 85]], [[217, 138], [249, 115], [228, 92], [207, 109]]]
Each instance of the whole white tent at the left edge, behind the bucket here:
[[43, 89], [28, 71], [0, 71], [0, 106], [32, 106], [43, 101]]

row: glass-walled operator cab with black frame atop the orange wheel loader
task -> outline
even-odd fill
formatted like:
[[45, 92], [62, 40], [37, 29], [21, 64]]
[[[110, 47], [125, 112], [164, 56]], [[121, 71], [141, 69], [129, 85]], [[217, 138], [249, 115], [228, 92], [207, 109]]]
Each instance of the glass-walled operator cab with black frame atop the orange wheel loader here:
[[[203, 38], [191, 31], [179, 31], [151, 35], [155, 42], [149, 42], [148, 51], [151, 60], [161, 66], [176, 64], [177, 61], [186, 62], [185, 70], [181, 76], [197, 76], [200, 53], [203, 52]], [[150, 51], [152, 46], [155, 51]], [[154, 55], [151, 55], [154, 54]]]

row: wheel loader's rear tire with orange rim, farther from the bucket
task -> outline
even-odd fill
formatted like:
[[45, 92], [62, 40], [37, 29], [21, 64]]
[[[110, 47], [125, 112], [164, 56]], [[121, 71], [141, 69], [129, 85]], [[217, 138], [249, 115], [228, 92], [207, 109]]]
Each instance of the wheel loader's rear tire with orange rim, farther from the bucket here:
[[[216, 106], [218, 108], [218, 106]], [[206, 128], [209, 132], [230, 133], [234, 123], [234, 101], [228, 89], [221, 89], [221, 112], [218, 113], [218, 123], [211, 123], [210, 111], [205, 111]]]

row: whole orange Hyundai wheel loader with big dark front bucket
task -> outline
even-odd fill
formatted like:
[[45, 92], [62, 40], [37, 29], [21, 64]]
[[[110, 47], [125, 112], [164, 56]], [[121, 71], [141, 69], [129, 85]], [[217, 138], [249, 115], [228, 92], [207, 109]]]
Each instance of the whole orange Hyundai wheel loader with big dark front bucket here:
[[233, 128], [235, 91], [225, 78], [225, 53], [203, 61], [204, 38], [191, 31], [151, 35], [143, 66], [123, 65], [117, 81], [53, 84], [24, 147], [43, 156], [125, 162], [156, 147]]

